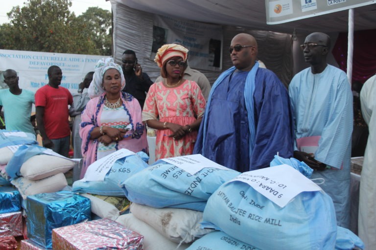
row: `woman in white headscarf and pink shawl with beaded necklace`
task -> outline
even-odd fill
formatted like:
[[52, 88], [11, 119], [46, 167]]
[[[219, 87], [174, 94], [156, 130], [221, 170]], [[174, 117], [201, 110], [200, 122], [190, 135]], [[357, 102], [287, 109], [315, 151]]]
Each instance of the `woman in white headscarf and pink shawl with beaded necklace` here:
[[97, 62], [88, 90], [93, 99], [81, 115], [81, 178], [90, 164], [120, 148], [147, 152], [140, 104], [132, 95], [121, 92], [124, 86], [123, 71], [113, 58]]

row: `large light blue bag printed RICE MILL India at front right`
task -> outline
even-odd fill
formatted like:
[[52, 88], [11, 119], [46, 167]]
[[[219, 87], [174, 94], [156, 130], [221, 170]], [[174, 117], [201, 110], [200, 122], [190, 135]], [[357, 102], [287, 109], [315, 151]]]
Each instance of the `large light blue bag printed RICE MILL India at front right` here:
[[334, 205], [324, 191], [301, 192], [281, 208], [240, 181], [211, 195], [202, 227], [263, 250], [334, 249], [337, 232]]

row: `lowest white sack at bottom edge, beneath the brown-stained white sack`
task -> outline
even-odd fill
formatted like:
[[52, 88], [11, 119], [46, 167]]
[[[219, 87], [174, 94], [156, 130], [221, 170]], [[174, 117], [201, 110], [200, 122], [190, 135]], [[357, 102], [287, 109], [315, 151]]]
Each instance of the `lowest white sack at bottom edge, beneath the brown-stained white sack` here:
[[137, 219], [133, 214], [120, 215], [116, 222], [140, 233], [143, 236], [144, 250], [185, 250], [189, 247], [189, 244], [179, 246], [178, 243], [168, 240], [157, 230]]

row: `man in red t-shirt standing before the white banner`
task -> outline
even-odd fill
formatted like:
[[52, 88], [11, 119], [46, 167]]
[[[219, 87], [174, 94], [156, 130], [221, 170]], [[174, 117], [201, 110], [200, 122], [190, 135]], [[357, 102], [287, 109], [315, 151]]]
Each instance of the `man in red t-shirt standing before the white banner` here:
[[36, 119], [44, 147], [68, 157], [71, 129], [68, 105], [73, 103], [69, 90], [60, 87], [63, 74], [58, 66], [47, 70], [48, 84], [35, 93]]

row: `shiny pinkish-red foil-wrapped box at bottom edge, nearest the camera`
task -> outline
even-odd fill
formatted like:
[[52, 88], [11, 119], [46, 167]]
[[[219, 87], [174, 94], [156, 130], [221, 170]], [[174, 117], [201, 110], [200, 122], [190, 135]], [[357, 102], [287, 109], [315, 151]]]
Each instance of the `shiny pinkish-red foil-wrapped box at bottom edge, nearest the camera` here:
[[143, 236], [121, 224], [100, 219], [52, 230], [54, 250], [143, 250]]

